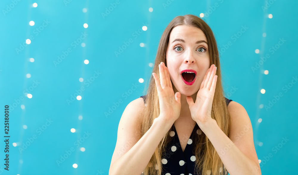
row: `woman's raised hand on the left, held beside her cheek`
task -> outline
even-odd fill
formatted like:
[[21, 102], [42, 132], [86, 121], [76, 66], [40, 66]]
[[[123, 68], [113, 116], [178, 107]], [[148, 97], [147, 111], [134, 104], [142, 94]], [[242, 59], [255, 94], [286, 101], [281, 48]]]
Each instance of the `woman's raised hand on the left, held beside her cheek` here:
[[180, 116], [181, 110], [181, 93], [176, 92], [172, 87], [169, 70], [163, 62], [159, 64], [159, 77], [156, 73], [152, 73], [155, 80], [158, 100], [159, 100], [159, 117], [166, 122], [175, 122]]

